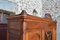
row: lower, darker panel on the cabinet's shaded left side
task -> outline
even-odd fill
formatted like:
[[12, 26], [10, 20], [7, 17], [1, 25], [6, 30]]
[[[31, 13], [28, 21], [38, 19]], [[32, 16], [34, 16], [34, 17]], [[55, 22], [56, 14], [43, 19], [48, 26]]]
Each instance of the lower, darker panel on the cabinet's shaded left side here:
[[20, 30], [15, 29], [9, 29], [9, 40], [20, 40], [20, 36], [22, 35], [22, 32]]

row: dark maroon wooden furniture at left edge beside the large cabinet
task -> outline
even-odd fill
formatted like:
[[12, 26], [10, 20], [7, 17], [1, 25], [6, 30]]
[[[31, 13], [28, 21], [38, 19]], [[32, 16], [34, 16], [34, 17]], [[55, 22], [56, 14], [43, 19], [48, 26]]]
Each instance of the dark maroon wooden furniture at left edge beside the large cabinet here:
[[7, 24], [0, 23], [0, 40], [7, 40]]

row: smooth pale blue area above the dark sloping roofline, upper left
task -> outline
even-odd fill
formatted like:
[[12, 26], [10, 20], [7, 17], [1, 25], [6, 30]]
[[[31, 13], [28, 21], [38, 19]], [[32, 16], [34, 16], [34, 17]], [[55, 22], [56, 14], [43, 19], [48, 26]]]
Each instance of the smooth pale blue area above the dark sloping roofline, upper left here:
[[16, 11], [16, 4], [9, 2], [8, 0], [0, 0], [0, 9], [8, 10], [8, 11]]

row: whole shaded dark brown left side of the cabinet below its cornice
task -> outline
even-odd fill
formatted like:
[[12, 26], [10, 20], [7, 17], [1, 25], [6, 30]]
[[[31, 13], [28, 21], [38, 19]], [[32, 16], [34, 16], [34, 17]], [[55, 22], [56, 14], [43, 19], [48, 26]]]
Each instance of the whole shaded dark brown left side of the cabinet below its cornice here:
[[22, 22], [18, 22], [18, 20], [9, 22], [8, 27], [9, 40], [20, 40], [20, 36], [23, 31], [22, 26], [23, 26]]

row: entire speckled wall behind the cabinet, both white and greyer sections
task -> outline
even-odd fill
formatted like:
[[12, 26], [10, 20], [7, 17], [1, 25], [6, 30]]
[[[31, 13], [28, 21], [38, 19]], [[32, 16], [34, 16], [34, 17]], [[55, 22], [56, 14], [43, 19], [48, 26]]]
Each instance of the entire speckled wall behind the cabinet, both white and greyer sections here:
[[33, 9], [36, 9], [36, 16], [43, 17], [45, 13], [51, 14], [55, 18], [60, 15], [60, 0], [8, 0], [16, 3], [16, 14], [19, 14], [23, 9], [30, 15], [33, 15]]

